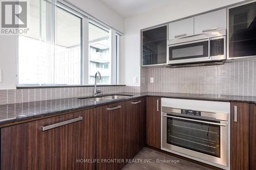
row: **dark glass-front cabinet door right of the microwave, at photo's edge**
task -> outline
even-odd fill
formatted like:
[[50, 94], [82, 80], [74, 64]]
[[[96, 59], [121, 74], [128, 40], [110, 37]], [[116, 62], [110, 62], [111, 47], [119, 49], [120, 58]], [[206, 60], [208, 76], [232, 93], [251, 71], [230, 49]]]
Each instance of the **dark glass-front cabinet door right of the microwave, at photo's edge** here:
[[256, 2], [229, 9], [229, 58], [256, 56]]

